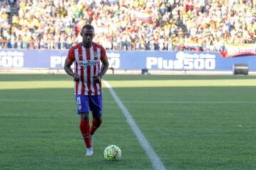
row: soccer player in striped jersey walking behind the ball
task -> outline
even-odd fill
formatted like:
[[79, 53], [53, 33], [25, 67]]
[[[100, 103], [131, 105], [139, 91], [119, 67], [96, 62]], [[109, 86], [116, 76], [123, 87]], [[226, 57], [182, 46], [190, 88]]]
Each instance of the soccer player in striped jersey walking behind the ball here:
[[[92, 135], [102, 123], [102, 84], [109, 62], [106, 50], [92, 39], [95, 29], [87, 24], [82, 27], [82, 42], [70, 48], [64, 69], [75, 82], [75, 101], [80, 114], [80, 131], [86, 145], [86, 156], [93, 154]], [[75, 63], [75, 69], [71, 65]], [[101, 65], [102, 64], [102, 65]], [[101, 65], [101, 67], [100, 67]], [[92, 111], [92, 125], [89, 112]]]

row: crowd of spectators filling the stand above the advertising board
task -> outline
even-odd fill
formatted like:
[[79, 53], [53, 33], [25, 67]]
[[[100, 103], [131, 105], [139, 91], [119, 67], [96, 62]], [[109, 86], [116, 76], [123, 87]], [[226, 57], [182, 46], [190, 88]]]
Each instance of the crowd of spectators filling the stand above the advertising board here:
[[[252, 0], [0, 0], [0, 48], [69, 49], [95, 26], [107, 50], [220, 50], [255, 44]], [[9, 21], [11, 6], [17, 14]]]

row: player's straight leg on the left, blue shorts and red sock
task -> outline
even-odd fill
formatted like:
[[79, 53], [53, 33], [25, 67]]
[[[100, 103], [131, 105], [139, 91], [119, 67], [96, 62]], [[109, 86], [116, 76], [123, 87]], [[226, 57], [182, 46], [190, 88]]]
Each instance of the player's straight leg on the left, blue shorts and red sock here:
[[[78, 114], [80, 114], [80, 131], [82, 133], [82, 137], [84, 139], [85, 145], [87, 148], [91, 148], [90, 141], [90, 123], [89, 123], [89, 99], [88, 96], [85, 95], [77, 95], [75, 96], [78, 106]], [[88, 155], [90, 156], [90, 155]]]

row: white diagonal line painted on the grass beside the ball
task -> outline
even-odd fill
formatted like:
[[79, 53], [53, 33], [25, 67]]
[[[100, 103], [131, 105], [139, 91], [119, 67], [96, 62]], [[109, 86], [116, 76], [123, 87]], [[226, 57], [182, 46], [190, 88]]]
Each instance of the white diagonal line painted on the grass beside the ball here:
[[132, 128], [132, 131], [137, 136], [137, 139], [139, 140], [140, 145], [142, 145], [143, 149], [148, 155], [151, 161], [151, 164], [154, 166], [154, 169], [164, 170], [165, 169], [164, 164], [161, 162], [161, 159], [157, 156], [156, 152], [154, 152], [154, 149], [146, 140], [146, 137], [142, 133], [142, 130], [140, 130], [137, 124], [135, 123], [134, 119], [132, 118], [132, 115], [129, 113], [127, 108], [124, 106], [122, 101], [114, 92], [110, 84], [107, 81], [103, 81], [103, 83], [107, 86], [108, 89], [110, 89], [110, 94], [114, 98], [114, 101], [117, 103], [119, 108], [122, 110], [122, 113], [124, 113], [124, 117], [127, 119], [127, 123], [129, 123], [130, 127]]

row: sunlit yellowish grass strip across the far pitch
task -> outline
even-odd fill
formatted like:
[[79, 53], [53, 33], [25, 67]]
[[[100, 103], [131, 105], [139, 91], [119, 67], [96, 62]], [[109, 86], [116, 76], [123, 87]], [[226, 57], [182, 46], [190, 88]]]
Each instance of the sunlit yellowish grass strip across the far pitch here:
[[[108, 81], [112, 87], [176, 87], [176, 86], [256, 86], [256, 79], [215, 79], [213, 80], [127, 80]], [[73, 88], [72, 81], [0, 81], [4, 89], [52, 89]]]

